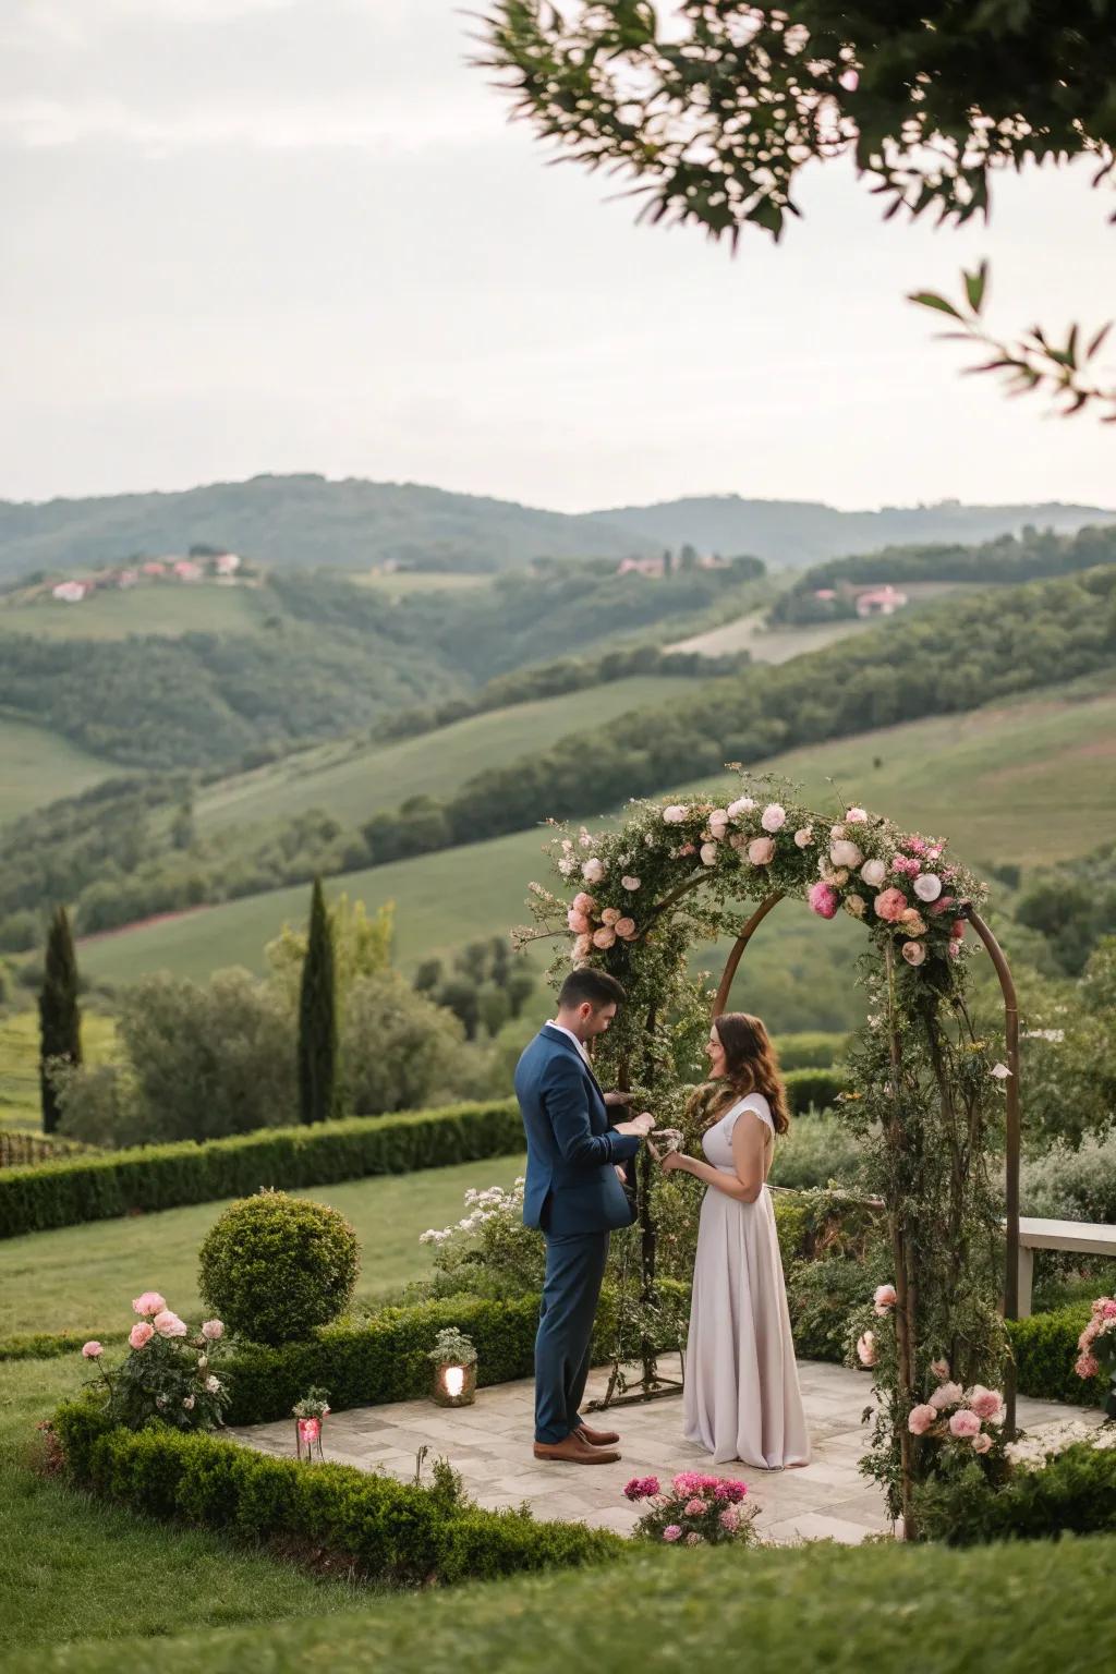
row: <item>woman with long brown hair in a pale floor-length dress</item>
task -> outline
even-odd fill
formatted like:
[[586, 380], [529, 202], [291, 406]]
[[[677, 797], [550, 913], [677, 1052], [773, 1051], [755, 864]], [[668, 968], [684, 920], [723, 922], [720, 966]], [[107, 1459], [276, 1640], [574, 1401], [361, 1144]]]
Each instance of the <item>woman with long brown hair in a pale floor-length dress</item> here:
[[711, 1085], [696, 1095], [704, 1158], [669, 1152], [664, 1170], [706, 1182], [686, 1344], [686, 1440], [714, 1463], [806, 1465], [783, 1262], [766, 1177], [790, 1118], [775, 1048], [760, 1018], [718, 1018], [706, 1045]]

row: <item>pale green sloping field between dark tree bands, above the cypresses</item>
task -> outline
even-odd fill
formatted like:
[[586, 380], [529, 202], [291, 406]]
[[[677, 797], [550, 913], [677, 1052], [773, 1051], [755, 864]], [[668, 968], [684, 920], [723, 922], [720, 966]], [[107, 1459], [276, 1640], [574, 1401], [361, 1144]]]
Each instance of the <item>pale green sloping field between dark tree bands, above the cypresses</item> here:
[[689, 695], [696, 680], [617, 680], [561, 698], [517, 703], [390, 745], [321, 745], [206, 787], [194, 804], [201, 837], [326, 809], [356, 824], [420, 793], [445, 797], [474, 773], [514, 762], [547, 738], [607, 727], [627, 710]]

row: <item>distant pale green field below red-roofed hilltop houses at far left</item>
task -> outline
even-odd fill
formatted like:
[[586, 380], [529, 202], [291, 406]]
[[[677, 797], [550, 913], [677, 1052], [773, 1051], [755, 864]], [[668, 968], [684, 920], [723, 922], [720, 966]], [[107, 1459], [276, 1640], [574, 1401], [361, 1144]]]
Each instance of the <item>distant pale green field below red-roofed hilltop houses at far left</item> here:
[[259, 591], [159, 581], [105, 588], [80, 604], [42, 598], [0, 608], [0, 633], [30, 633], [50, 639], [127, 639], [129, 634], [254, 633], [263, 621]]

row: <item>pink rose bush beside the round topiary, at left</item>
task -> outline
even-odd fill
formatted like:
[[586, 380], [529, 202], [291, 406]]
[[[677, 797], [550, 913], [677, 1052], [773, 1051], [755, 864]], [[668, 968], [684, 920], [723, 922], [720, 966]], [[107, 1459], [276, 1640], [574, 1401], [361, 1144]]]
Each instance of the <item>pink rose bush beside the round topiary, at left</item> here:
[[132, 1311], [139, 1319], [115, 1371], [105, 1366], [100, 1343], [87, 1343], [82, 1349], [85, 1359], [97, 1364], [90, 1388], [104, 1393], [112, 1423], [129, 1430], [142, 1430], [152, 1421], [176, 1430], [216, 1430], [229, 1403], [228, 1388], [212, 1369], [221, 1358], [223, 1322], [206, 1319], [191, 1331], [157, 1291], [137, 1296]]

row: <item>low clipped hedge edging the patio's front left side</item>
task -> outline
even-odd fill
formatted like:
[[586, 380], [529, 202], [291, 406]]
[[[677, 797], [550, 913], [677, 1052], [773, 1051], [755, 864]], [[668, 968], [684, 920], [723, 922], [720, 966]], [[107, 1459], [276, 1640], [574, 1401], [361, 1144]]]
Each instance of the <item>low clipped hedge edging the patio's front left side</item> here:
[[299, 1465], [204, 1433], [122, 1430], [102, 1408], [59, 1408], [54, 1433], [74, 1480], [149, 1517], [241, 1538], [294, 1540], [370, 1580], [417, 1585], [614, 1562], [627, 1543], [582, 1523], [482, 1512], [437, 1488], [353, 1465]]

